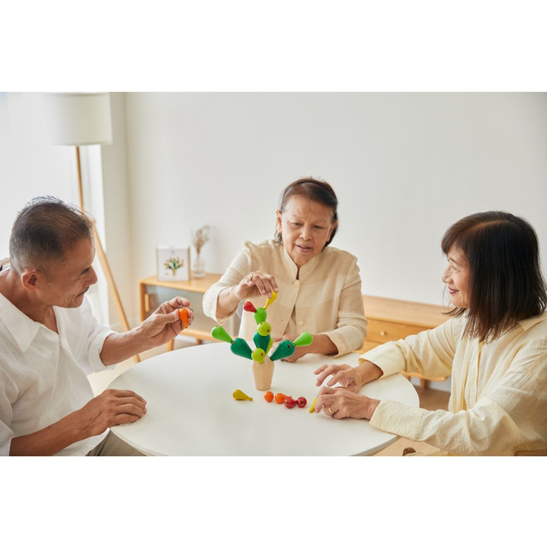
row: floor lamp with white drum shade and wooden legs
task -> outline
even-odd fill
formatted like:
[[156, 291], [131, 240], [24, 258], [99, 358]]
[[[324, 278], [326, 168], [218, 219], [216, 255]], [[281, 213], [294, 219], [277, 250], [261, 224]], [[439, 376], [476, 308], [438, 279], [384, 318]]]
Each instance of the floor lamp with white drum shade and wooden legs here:
[[[51, 142], [74, 146], [76, 149], [80, 210], [84, 212], [80, 146], [112, 143], [110, 95], [108, 93], [48, 93], [44, 95], [44, 98]], [[124, 307], [121, 304], [106, 253], [97, 234], [95, 222], [93, 223], [93, 237], [97, 258], [108, 283], [108, 293], [112, 296], [123, 328], [129, 330]], [[135, 360], [138, 363], [141, 359], [136, 355]]]

